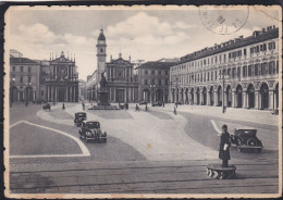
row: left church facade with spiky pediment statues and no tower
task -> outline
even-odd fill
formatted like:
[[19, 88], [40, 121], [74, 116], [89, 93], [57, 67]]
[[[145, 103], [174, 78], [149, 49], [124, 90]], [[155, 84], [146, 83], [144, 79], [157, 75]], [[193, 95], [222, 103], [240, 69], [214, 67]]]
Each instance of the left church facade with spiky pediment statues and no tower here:
[[78, 75], [75, 60], [61, 57], [50, 60], [49, 71], [46, 72], [45, 88], [46, 101], [77, 102], [78, 101]]

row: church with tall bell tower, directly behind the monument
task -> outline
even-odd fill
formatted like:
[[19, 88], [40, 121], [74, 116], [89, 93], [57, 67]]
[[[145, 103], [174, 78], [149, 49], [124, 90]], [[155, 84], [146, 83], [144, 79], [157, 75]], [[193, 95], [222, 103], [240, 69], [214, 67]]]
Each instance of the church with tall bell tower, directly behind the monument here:
[[97, 70], [87, 77], [87, 88], [89, 100], [97, 100], [97, 91], [101, 74], [104, 73], [110, 102], [137, 102], [138, 101], [138, 82], [134, 75], [134, 64], [131, 59], [124, 60], [119, 53], [118, 59], [110, 57], [110, 62], [107, 62], [107, 42], [103, 29], [97, 39]]

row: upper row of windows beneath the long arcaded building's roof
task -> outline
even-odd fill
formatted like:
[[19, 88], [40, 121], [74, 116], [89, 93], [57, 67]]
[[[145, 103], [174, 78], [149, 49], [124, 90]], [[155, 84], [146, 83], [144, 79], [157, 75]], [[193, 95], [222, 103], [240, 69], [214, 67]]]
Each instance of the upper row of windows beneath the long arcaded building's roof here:
[[[276, 48], [275, 41], [267, 42], [267, 43], [261, 43], [255, 47], [250, 48], [250, 55], [254, 53], [259, 53], [260, 51], [266, 52], [267, 51], [267, 46], [270, 51], [274, 50]], [[223, 55], [223, 57], [222, 57]], [[241, 49], [237, 51], [229, 52], [229, 61], [232, 61], [232, 59], [241, 58], [242, 55], [247, 57], [247, 49]], [[217, 63], [222, 63], [226, 62], [226, 53], [214, 55], [211, 58], [202, 59], [200, 61], [193, 61], [186, 64], [177, 65], [171, 67], [173, 71], [177, 70], [184, 70], [188, 67], [202, 67], [209, 64], [217, 64]]]

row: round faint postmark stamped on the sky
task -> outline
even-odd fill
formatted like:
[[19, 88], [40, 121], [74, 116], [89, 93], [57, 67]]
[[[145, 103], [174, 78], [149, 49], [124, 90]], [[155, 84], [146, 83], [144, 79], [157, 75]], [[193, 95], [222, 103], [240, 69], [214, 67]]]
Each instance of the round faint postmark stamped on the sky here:
[[246, 23], [249, 9], [227, 10], [225, 8], [200, 7], [202, 24], [214, 34], [230, 35], [239, 30]]

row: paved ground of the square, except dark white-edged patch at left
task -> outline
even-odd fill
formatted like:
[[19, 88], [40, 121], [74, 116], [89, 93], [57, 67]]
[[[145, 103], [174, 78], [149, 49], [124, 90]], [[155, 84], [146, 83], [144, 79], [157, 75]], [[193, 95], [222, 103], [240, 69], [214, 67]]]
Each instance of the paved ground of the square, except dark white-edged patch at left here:
[[[128, 111], [86, 110], [88, 120], [98, 120], [110, 136], [107, 145], [84, 143], [90, 157], [10, 159], [10, 191], [96, 195], [279, 192], [278, 116], [230, 109], [222, 114], [220, 108], [192, 105], [179, 107], [177, 115], [173, 114], [173, 104], [149, 107], [149, 112], [135, 112], [134, 108], [135, 104], [130, 104]], [[57, 104], [50, 113], [38, 108], [30, 110], [24, 115], [26, 121], [77, 137], [72, 116], [82, 111], [81, 104], [66, 104], [65, 111]], [[22, 111], [28, 110], [22, 108]], [[17, 110], [11, 112], [14, 117], [10, 124], [22, 118]], [[259, 129], [258, 137], [264, 146], [262, 153], [231, 150], [231, 164], [237, 167], [235, 179], [216, 180], [206, 175], [207, 164], [220, 162], [217, 159], [219, 138], [211, 120], [219, 128], [226, 123], [231, 132], [235, 127]]]

